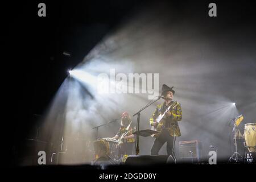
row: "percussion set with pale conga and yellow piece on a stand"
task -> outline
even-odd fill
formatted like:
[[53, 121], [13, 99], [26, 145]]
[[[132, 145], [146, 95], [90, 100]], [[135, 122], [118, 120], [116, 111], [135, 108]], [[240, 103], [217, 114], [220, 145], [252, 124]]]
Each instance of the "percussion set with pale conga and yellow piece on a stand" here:
[[[241, 135], [240, 130], [237, 129], [238, 125], [243, 120], [242, 115], [238, 115], [236, 118], [232, 119], [234, 122], [234, 127], [233, 127], [233, 132], [234, 132], [234, 146], [235, 146], [235, 152], [234, 154], [229, 158], [229, 162], [246, 162], [249, 163], [252, 160], [256, 159], [251, 159], [251, 156], [256, 154], [256, 123], [246, 123], [244, 126], [244, 134]], [[241, 154], [237, 152], [237, 139], [242, 138], [244, 141], [244, 147], [245, 147], [245, 154], [247, 154], [247, 158], [244, 156], [242, 157]], [[246, 159], [243, 160], [243, 159]]]

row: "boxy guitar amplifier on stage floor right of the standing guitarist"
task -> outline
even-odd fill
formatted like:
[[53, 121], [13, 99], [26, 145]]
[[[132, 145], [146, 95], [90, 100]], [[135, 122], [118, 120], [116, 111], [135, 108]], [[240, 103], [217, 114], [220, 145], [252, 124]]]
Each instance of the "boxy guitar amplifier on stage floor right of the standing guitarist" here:
[[181, 162], [198, 163], [201, 146], [198, 140], [180, 142]]

